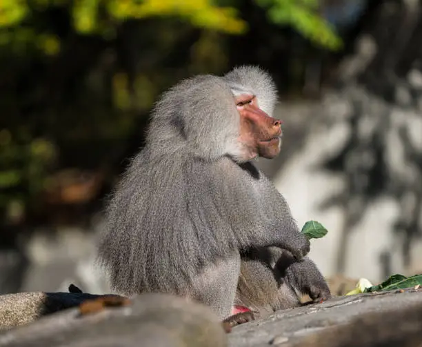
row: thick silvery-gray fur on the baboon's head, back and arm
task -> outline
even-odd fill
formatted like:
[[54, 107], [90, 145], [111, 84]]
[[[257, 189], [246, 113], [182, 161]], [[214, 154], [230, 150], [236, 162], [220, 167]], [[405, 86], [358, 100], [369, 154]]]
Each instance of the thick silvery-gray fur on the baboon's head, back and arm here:
[[118, 293], [192, 297], [224, 318], [235, 301], [241, 255], [268, 246], [295, 260], [308, 253], [285, 199], [241, 157], [233, 95], [245, 91], [272, 115], [274, 83], [251, 66], [182, 81], [155, 106], [145, 147], [110, 199], [99, 244]]

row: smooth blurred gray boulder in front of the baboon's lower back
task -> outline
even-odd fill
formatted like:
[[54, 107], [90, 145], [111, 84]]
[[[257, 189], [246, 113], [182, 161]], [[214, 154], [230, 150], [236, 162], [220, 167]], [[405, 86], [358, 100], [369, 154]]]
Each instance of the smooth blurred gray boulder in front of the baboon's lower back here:
[[227, 346], [210, 309], [179, 297], [140, 295], [129, 306], [83, 314], [78, 308], [43, 317], [0, 335], [8, 347]]

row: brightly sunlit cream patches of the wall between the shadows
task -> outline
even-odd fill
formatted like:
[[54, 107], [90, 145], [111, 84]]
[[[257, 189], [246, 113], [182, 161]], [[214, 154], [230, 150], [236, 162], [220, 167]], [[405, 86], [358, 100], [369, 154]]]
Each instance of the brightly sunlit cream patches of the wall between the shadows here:
[[[320, 106], [310, 105], [308, 114], [301, 116], [303, 119], [302, 126], [309, 128], [304, 136], [304, 144], [301, 149], [297, 151], [289, 150], [289, 153], [292, 154], [288, 158], [260, 161], [258, 166], [264, 172], [270, 172], [277, 190], [283, 194], [290, 204], [299, 227], [312, 219], [321, 222], [329, 230], [328, 235], [322, 239], [311, 241], [310, 257], [316, 261], [325, 276], [332, 276], [336, 274], [345, 214], [341, 206], [321, 210], [319, 205], [325, 199], [343, 190], [345, 177], [341, 172], [333, 174], [323, 170], [319, 164], [333, 150], [339, 148], [339, 145], [345, 141], [349, 134], [345, 122], [341, 121], [341, 107], [332, 110], [332, 112], [339, 114], [340, 120], [336, 119], [332, 123], [329, 122], [329, 125], [323, 121], [309, 121], [307, 126], [306, 117], [308, 119], [312, 117], [314, 114], [312, 109]], [[303, 108], [303, 105], [301, 108]], [[276, 117], [286, 117], [286, 112], [283, 110], [285, 110], [285, 107], [279, 106]], [[290, 117], [294, 116], [290, 112], [287, 117], [286, 123], [288, 125], [292, 122]], [[292, 146], [291, 143], [285, 143], [285, 145]], [[281, 153], [281, 157], [283, 157], [283, 153]], [[277, 160], [283, 161], [283, 167], [274, 172], [274, 167], [279, 166]], [[380, 197], [369, 204], [361, 221], [350, 231], [345, 259], [345, 273], [343, 275], [381, 281], [384, 277], [380, 255], [385, 251], [390, 253], [392, 260], [390, 272], [408, 275], [422, 272], [422, 241], [414, 241], [411, 252], [412, 264], [408, 268], [403, 266], [401, 235], [393, 232], [393, 224], [399, 213], [399, 202], [391, 197]]]

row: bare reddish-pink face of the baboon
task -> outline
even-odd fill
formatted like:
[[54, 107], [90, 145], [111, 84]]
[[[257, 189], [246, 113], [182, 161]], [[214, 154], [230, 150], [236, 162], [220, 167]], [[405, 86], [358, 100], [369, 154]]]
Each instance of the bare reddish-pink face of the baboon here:
[[280, 152], [281, 121], [270, 117], [258, 106], [257, 97], [242, 94], [234, 98], [241, 117], [239, 141], [248, 148], [247, 159], [272, 159]]

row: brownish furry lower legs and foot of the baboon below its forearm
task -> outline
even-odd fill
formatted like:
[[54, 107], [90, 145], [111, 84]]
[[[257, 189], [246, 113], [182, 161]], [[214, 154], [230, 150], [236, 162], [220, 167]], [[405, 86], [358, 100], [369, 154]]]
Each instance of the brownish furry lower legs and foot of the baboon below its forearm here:
[[290, 252], [268, 247], [250, 250], [241, 259], [235, 304], [259, 312], [261, 317], [299, 306], [303, 295], [330, 297], [323, 275], [308, 257], [297, 261]]

